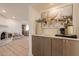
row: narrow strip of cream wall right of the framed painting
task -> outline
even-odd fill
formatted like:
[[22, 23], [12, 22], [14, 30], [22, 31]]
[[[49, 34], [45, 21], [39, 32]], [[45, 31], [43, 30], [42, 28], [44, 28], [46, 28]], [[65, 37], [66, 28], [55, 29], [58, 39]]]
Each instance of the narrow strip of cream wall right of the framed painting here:
[[74, 33], [79, 38], [79, 4], [73, 4], [73, 25]]

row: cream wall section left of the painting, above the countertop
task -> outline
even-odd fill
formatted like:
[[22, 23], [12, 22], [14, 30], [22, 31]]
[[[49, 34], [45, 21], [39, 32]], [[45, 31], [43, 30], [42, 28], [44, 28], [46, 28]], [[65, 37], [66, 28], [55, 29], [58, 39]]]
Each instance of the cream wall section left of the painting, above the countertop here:
[[32, 34], [36, 32], [36, 22], [35, 20], [40, 18], [40, 11], [37, 11], [32, 6], [29, 7], [29, 21], [32, 29]]

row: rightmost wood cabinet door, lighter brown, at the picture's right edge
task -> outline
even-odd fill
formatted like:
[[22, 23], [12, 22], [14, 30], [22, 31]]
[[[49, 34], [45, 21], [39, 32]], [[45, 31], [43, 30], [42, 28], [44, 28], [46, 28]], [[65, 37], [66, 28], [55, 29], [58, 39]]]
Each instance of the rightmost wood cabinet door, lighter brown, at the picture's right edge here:
[[65, 40], [64, 56], [79, 56], [79, 41], [77, 40]]

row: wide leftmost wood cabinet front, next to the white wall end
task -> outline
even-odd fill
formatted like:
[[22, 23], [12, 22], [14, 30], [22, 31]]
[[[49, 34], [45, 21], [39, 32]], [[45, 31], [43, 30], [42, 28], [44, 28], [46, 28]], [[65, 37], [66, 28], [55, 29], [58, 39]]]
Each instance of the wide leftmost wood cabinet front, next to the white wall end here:
[[34, 56], [51, 56], [51, 39], [47, 37], [33, 36], [32, 53]]

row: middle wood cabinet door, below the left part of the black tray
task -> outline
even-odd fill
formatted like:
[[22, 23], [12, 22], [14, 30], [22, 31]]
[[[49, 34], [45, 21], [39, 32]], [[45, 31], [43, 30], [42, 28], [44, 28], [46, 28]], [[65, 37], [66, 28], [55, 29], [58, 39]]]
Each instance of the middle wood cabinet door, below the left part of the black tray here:
[[52, 56], [63, 55], [63, 40], [52, 38]]

